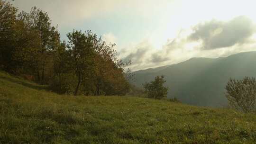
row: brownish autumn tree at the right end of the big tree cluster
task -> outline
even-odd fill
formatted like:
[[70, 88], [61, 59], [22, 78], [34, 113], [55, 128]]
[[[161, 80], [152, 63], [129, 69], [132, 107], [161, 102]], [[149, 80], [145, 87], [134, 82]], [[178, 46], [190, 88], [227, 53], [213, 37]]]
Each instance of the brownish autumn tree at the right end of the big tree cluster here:
[[[105, 45], [96, 57], [96, 95], [124, 95], [129, 91], [129, 83], [124, 67], [130, 62], [124, 63], [115, 57], [114, 45]], [[103, 53], [101, 53], [103, 51]]]

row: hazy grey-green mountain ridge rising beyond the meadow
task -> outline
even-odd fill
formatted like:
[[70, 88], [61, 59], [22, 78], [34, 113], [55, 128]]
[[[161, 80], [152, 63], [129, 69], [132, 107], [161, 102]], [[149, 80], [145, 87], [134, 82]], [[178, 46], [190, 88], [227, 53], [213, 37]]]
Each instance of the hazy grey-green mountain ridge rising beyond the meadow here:
[[192, 58], [160, 69], [134, 73], [138, 87], [157, 75], [165, 75], [166, 86], [169, 87], [167, 98], [176, 97], [183, 103], [197, 106], [222, 107], [228, 104], [224, 92], [230, 77], [256, 77], [256, 52], [216, 59]]

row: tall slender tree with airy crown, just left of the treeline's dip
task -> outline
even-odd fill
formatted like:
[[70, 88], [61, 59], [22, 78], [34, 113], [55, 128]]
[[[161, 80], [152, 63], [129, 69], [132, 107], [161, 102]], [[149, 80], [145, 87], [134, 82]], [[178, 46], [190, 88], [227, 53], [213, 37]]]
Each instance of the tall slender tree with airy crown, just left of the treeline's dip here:
[[[59, 34], [55, 27], [51, 27], [51, 20], [47, 12], [43, 12], [37, 7], [31, 9], [30, 13], [22, 11], [18, 19], [25, 23], [28, 32], [37, 34], [37, 46], [34, 47], [37, 53], [34, 54], [34, 63], [36, 64], [37, 81], [45, 83], [45, 73], [48, 64], [52, 63], [53, 56], [51, 51], [55, 48], [56, 43], [60, 43]], [[55, 40], [55, 42], [53, 42]]]

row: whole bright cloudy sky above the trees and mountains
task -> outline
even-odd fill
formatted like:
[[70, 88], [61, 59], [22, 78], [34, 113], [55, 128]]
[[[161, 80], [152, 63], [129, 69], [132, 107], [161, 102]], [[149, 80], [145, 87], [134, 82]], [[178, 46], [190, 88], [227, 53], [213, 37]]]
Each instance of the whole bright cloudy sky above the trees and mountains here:
[[132, 70], [256, 50], [255, 0], [9, 0], [48, 12], [61, 39], [91, 30]]

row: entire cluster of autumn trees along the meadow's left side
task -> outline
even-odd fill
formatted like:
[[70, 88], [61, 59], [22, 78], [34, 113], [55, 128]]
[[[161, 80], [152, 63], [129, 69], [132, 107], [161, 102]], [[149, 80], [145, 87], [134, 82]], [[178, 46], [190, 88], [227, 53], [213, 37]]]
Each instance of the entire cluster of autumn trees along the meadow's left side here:
[[[0, 69], [74, 95], [124, 95], [129, 90], [115, 45], [91, 31], [73, 30], [61, 41], [57, 27], [36, 7], [20, 12], [0, 0]], [[128, 71], [130, 72], [130, 71]]]

